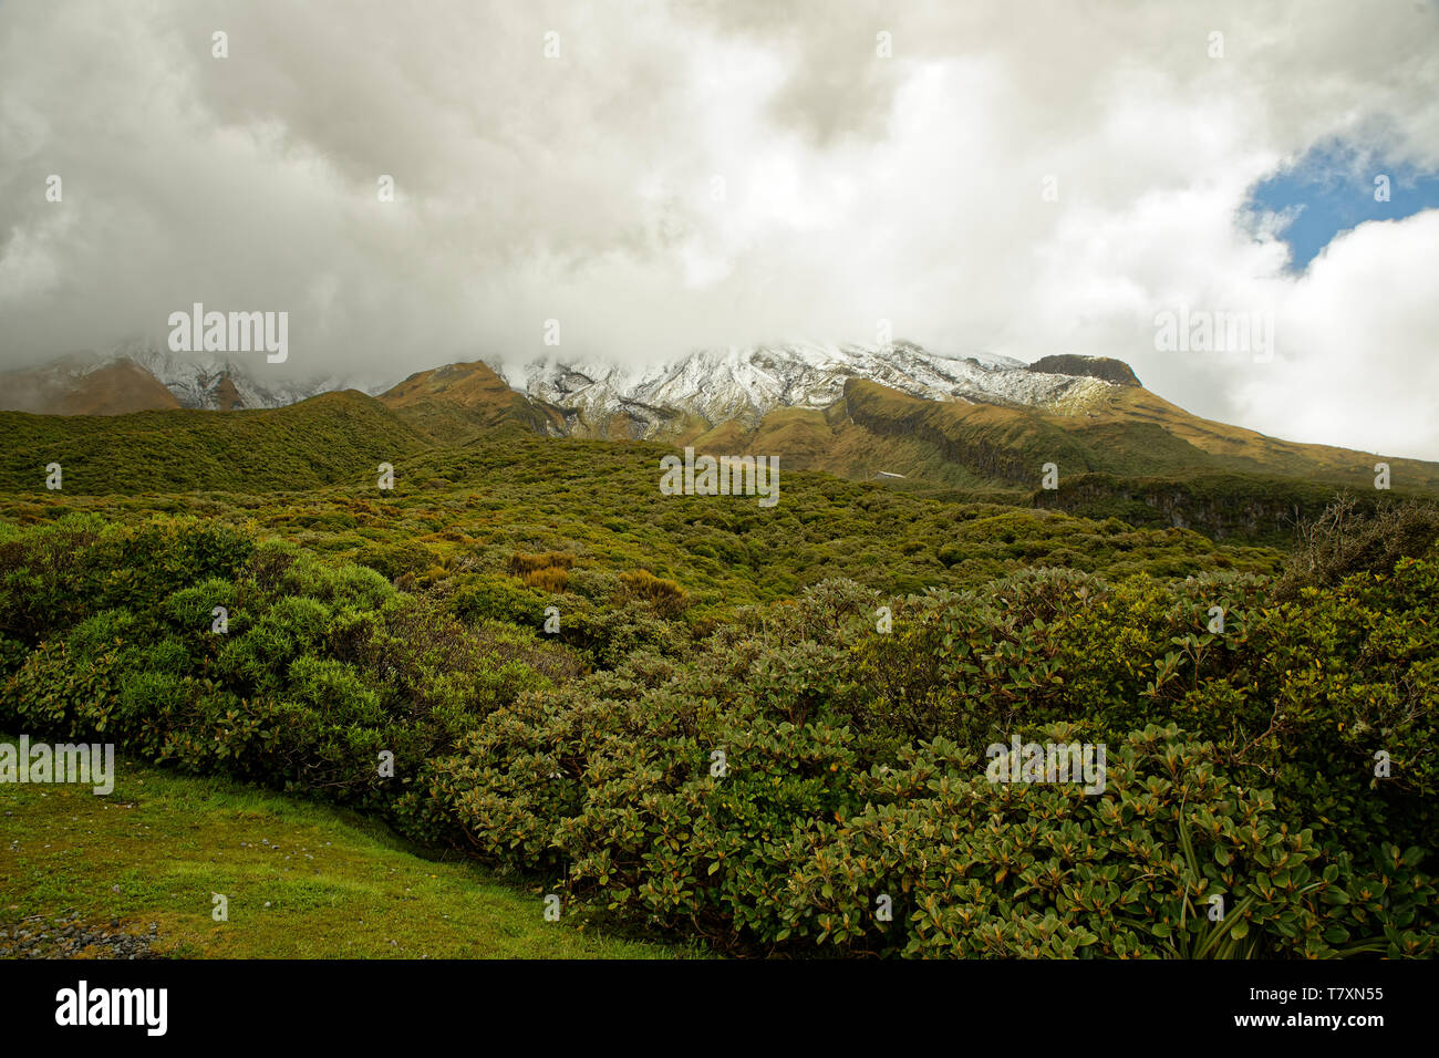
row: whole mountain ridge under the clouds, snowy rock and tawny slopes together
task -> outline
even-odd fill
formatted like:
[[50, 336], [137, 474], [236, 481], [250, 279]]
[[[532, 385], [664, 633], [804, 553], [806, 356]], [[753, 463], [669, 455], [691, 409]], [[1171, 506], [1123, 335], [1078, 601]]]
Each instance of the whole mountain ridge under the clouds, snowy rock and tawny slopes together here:
[[[134, 358], [137, 353], [153, 370]], [[53, 403], [68, 415], [176, 415], [184, 403], [176, 390], [191, 404], [214, 409], [186, 415], [230, 415], [304, 392], [258, 387], [219, 357], [181, 363], [134, 345], [49, 370], [60, 380]], [[96, 394], [96, 383], [111, 377], [106, 371], [134, 383], [140, 407]], [[66, 396], [65, 379], [85, 384]], [[485, 430], [514, 426], [544, 436], [755, 452], [794, 469], [882, 478], [901, 488], [1012, 494], [1036, 505], [1059, 502], [1035, 494], [1043, 468], [1055, 465], [1069, 484], [1101, 475], [1066, 492], [1065, 502], [1135, 512], [1135, 497], [1171, 502], [1163, 489], [1135, 482], [1238, 474], [1371, 488], [1376, 464], [1370, 453], [1200, 419], [1150, 393], [1121, 360], [1056, 354], [1025, 364], [983, 351], [938, 354], [908, 341], [696, 350], [643, 369], [593, 360], [519, 367], [473, 360], [414, 371], [367, 402], [361, 417], [381, 435], [425, 445], [463, 445]], [[381, 426], [384, 416], [393, 426]], [[1439, 492], [1439, 464], [1384, 462], [1396, 488]]]

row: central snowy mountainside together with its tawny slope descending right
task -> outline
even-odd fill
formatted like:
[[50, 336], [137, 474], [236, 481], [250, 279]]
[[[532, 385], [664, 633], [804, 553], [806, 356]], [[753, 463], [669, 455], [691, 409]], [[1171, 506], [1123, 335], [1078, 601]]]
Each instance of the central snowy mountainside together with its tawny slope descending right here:
[[[1207, 469], [1371, 488], [1379, 462], [1200, 419], [1145, 390], [1128, 364], [1108, 357], [1061, 354], [1026, 366], [983, 353], [938, 354], [914, 343], [793, 343], [702, 350], [643, 370], [555, 361], [502, 367], [501, 376], [553, 406], [574, 436], [704, 445], [744, 439], [755, 451], [848, 476], [884, 469], [935, 484], [973, 485], [977, 478], [1029, 487], [1042, 464], [1055, 462], [1062, 474]], [[551, 413], [550, 429], [554, 420]], [[848, 425], [879, 436], [866, 445]], [[901, 440], [904, 452], [894, 446]], [[1439, 465], [1386, 462], [1406, 487], [1439, 489]]]

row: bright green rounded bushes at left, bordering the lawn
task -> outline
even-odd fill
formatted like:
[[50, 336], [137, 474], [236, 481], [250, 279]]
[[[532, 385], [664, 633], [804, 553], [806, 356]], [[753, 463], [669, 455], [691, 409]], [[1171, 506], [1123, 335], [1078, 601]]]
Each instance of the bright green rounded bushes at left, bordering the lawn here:
[[[0, 687], [0, 725], [191, 772], [387, 810], [427, 757], [547, 687], [534, 665], [573, 672], [518, 629], [469, 629], [374, 570], [193, 520], [66, 520], [4, 547], [0, 626], [39, 642]], [[63, 574], [83, 590], [62, 592]]]

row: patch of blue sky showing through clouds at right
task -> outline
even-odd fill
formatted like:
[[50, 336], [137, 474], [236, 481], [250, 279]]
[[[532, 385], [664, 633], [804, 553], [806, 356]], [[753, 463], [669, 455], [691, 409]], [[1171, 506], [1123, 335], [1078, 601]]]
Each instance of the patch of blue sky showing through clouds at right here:
[[[1389, 202], [1377, 200], [1374, 178], [1389, 177]], [[1439, 174], [1394, 164], [1344, 143], [1308, 151], [1295, 164], [1262, 180], [1250, 193], [1252, 214], [1281, 213], [1279, 238], [1289, 268], [1302, 272], [1334, 236], [1368, 220], [1402, 220], [1439, 207]]]

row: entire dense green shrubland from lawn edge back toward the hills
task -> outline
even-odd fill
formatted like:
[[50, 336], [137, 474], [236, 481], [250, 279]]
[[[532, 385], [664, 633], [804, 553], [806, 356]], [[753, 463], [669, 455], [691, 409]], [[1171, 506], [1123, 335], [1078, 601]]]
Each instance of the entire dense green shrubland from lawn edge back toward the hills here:
[[[770, 523], [655, 507], [659, 531], [589, 497], [584, 535], [472, 492], [449, 521], [413, 494], [288, 508], [298, 541], [204, 497], [3, 527], [0, 730], [355, 803], [571, 914], [737, 953], [1435, 953], [1423, 534], [1279, 583], [1193, 534], [797, 491]], [[1006, 559], [954, 576], [955, 540]], [[1032, 569], [1059, 548], [1098, 567]], [[1016, 736], [1107, 746], [1104, 792], [990, 782]]]

